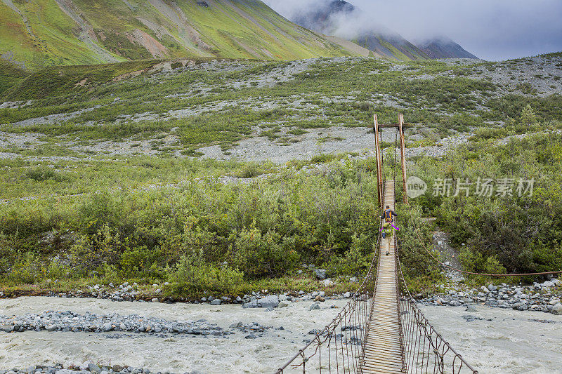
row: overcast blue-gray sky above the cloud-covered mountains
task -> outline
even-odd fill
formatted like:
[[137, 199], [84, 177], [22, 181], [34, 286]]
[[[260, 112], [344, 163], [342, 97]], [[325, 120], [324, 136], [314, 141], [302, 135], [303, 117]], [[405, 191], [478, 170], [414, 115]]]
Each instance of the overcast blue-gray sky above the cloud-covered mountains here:
[[[265, 0], [289, 17], [323, 0]], [[449, 36], [485, 60], [562, 51], [562, 0], [348, 0], [406, 39]]]

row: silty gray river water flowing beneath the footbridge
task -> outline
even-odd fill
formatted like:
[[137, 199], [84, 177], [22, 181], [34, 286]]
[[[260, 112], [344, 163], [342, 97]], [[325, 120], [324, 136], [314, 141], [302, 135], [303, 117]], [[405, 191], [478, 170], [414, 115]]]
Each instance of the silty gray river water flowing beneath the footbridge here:
[[[0, 300], [0, 315], [22, 316], [46, 310], [71, 310], [84, 314], [139, 314], [169, 320], [207, 319], [222, 328], [257, 322], [273, 326], [263, 336], [246, 339], [236, 332], [226, 338], [188, 335], [159, 337], [134, 333], [64, 333], [28, 331], [0, 333], [0, 369], [86, 360], [103, 364], [145, 367], [174, 373], [272, 373], [310, 339], [308, 331], [321, 328], [345, 305], [328, 300], [320, 310], [308, 310], [312, 302], [297, 302], [273, 312], [242, 309], [240, 305], [111, 302], [97, 299], [18, 298]], [[335, 305], [336, 309], [330, 306]], [[517, 312], [478, 306], [422, 307], [424, 314], [480, 373], [562, 373], [562, 316]], [[467, 322], [471, 314], [483, 320]], [[488, 321], [491, 319], [491, 321]], [[277, 330], [283, 326], [285, 330]]]

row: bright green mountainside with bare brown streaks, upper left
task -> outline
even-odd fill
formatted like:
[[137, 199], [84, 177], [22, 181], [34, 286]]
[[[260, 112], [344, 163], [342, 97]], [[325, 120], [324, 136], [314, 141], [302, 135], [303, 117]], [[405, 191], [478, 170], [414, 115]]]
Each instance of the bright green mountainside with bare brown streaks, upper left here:
[[0, 55], [28, 69], [166, 58], [354, 55], [259, 0], [3, 0]]

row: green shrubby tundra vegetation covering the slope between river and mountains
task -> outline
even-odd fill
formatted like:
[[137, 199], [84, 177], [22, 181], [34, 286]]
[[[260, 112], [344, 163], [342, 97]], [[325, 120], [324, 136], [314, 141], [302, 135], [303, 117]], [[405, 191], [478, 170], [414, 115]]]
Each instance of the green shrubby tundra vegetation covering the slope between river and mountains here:
[[[33, 74], [2, 68], [0, 101], [16, 102], [0, 109], [5, 293], [125, 280], [147, 295], [152, 283], [168, 282], [164, 293], [176, 297], [319, 288], [303, 264], [340, 277], [330, 292], [353, 290], [348, 276], [365, 273], [377, 245], [373, 158], [332, 152], [275, 164], [203, 159], [200, 150], [218, 145], [228, 156], [250, 138], [295, 144], [313, 129], [368, 128], [374, 113], [415, 123], [409, 148], [470, 134], [445, 156], [408, 159], [408, 174], [430, 182], [424, 196], [397, 207], [412, 290], [443, 281], [414, 223], [426, 243], [436, 225], [450, 234], [467, 270], [562, 268], [560, 54], [471, 65], [193, 61], [163, 70], [151, 70], [161, 60]], [[551, 74], [509, 78], [528, 62]], [[25, 137], [32, 140], [8, 140]], [[113, 142], [132, 150], [98, 148]], [[150, 152], [134, 151], [142, 142]], [[390, 178], [394, 143], [383, 147]], [[450, 196], [433, 196], [436, 178], [534, 178], [535, 188], [532, 196], [455, 196], [453, 184]]]

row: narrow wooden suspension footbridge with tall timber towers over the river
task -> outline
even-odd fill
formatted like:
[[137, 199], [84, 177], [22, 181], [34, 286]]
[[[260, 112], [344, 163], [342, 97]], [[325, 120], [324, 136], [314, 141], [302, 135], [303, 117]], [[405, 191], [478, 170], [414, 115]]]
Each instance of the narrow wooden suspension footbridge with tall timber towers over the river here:
[[[394, 166], [400, 134], [403, 196], [407, 203], [404, 145], [407, 126], [402, 114], [398, 123], [389, 125], [379, 125], [374, 116], [381, 213], [385, 206], [394, 210], [396, 167], [393, 179], [386, 180], [379, 130], [396, 128]], [[275, 373], [478, 373], [436, 332], [417, 307], [400, 267], [396, 235], [387, 244], [381, 240], [379, 231], [375, 248], [370, 268], [348, 304]]]

